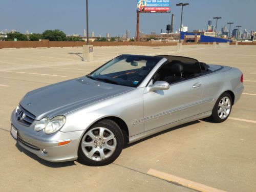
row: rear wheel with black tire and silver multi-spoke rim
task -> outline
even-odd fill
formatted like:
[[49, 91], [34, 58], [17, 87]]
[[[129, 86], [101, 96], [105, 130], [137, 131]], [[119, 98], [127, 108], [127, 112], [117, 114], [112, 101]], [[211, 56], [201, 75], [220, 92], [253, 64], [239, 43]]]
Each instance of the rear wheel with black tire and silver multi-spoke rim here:
[[216, 123], [225, 121], [231, 113], [232, 98], [229, 93], [223, 93], [214, 105], [210, 119]]

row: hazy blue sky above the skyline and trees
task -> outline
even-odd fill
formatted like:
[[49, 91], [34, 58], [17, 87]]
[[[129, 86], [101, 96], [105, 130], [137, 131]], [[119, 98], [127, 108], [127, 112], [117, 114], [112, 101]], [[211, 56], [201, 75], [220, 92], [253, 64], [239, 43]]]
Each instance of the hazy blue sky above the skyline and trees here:
[[[255, 0], [171, 0], [175, 31], [180, 24], [181, 7], [176, 7], [180, 2], [190, 4], [184, 7], [183, 14], [183, 24], [189, 31], [206, 28], [208, 19], [214, 16], [222, 17], [218, 31], [227, 22], [234, 22], [231, 29], [241, 25], [242, 29], [256, 30]], [[129, 29], [134, 36], [136, 6], [137, 0], [89, 0], [90, 33], [105, 36], [109, 32], [111, 36], [121, 36]], [[0, 14], [0, 31], [41, 33], [46, 29], [60, 29], [66, 34], [83, 34], [86, 28], [86, 0], [1, 0]], [[168, 13], [140, 14], [140, 31], [160, 33], [161, 29], [165, 31], [170, 19]]]

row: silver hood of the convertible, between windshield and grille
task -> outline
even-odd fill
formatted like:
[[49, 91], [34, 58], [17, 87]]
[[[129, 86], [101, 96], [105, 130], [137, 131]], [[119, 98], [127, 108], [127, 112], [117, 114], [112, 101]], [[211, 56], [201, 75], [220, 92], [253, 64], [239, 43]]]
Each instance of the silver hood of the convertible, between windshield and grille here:
[[134, 88], [81, 77], [31, 91], [20, 101], [24, 109], [36, 116], [52, 118], [82, 106], [113, 97]]

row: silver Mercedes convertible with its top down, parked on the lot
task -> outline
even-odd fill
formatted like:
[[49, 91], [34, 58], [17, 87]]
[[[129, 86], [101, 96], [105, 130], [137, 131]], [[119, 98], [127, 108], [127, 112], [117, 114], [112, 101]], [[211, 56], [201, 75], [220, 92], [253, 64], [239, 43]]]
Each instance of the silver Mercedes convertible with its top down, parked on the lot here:
[[106, 165], [127, 143], [206, 117], [225, 121], [243, 89], [236, 68], [120, 55], [86, 76], [27, 93], [11, 115], [11, 135], [47, 161]]

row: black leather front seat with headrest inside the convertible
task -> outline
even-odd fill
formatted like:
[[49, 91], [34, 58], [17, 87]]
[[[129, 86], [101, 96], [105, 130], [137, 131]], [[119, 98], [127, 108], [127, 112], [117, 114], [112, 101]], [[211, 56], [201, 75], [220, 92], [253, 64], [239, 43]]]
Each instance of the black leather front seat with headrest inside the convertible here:
[[170, 74], [172, 74], [172, 75], [165, 76], [163, 78], [164, 81], [171, 83], [171, 82], [180, 81], [180, 80], [184, 79], [182, 77], [182, 72], [184, 69], [180, 63], [175, 63], [171, 66], [168, 66], [167, 68], [169, 69]]

